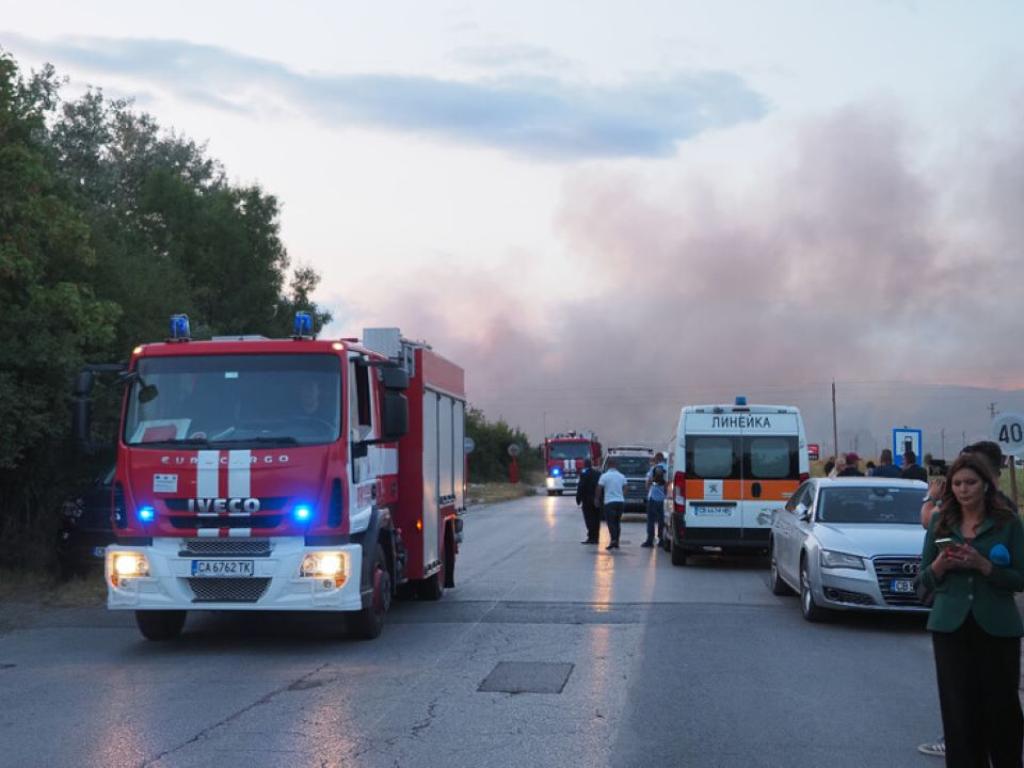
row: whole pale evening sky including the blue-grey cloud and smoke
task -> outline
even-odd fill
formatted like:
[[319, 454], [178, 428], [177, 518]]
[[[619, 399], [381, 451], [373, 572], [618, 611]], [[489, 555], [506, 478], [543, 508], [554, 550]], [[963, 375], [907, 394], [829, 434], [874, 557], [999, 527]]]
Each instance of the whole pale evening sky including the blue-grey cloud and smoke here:
[[1014, 2], [0, 0], [23, 67], [279, 198], [325, 335], [397, 326], [488, 417], [610, 444], [737, 394], [825, 442], [834, 380], [841, 447], [1024, 410], [1021, 29]]

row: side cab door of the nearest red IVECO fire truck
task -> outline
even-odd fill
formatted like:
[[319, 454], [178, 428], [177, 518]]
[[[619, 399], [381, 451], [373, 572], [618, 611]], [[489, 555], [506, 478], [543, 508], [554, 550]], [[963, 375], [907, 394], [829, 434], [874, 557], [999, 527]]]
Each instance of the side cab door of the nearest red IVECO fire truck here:
[[375, 471], [376, 446], [366, 440], [377, 434], [376, 403], [374, 402], [373, 372], [355, 358], [348, 360], [348, 513], [349, 530], [357, 534], [370, 524], [376, 502], [377, 472]]

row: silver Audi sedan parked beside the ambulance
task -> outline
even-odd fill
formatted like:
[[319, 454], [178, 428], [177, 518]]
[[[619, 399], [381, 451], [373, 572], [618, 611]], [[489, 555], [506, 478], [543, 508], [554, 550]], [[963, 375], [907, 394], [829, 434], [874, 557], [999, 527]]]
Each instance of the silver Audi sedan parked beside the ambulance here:
[[927, 611], [913, 585], [927, 490], [920, 480], [808, 480], [772, 518], [771, 591], [798, 592], [809, 622], [826, 609]]

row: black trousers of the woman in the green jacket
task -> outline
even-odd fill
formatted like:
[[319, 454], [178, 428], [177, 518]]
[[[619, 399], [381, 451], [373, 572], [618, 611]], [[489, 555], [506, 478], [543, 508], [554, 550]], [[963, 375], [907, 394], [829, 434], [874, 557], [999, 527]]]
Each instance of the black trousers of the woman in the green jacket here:
[[989, 635], [968, 615], [955, 632], [933, 632], [932, 648], [946, 765], [1021, 768], [1020, 638]]

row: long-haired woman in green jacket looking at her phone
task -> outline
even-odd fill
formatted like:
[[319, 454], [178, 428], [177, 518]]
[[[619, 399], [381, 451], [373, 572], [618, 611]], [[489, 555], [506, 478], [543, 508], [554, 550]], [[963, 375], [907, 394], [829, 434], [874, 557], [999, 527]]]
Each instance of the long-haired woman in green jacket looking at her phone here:
[[[974, 454], [949, 468], [941, 512], [925, 538], [921, 581], [939, 681], [946, 765], [1021, 768], [1020, 638], [1024, 526]], [[991, 761], [991, 763], [989, 763]]]

